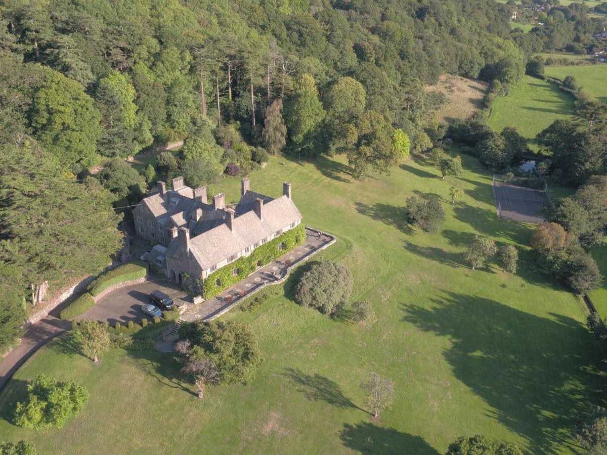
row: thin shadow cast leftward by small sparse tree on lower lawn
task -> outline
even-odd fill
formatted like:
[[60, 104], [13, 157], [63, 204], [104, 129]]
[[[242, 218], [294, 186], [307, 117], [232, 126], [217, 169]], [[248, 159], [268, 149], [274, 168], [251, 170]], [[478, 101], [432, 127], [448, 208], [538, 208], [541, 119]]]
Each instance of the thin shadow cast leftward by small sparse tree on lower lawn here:
[[287, 377], [296, 385], [299, 386], [297, 391], [311, 401], [324, 401], [331, 406], [337, 408], [354, 408], [360, 409], [367, 414], [368, 411], [359, 408], [351, 400], [342, 393], [341, 388], [336, 382], [328, 379], [328, 377], [320, 376], [320, 374], [307, 374], [297, 368], [285, 368], [282, 376]]

